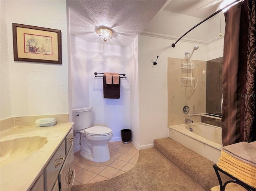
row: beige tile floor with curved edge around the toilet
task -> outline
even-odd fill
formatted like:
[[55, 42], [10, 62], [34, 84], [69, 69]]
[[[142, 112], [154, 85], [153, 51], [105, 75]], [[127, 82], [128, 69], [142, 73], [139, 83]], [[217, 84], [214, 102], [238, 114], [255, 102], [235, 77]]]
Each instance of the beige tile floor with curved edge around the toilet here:
[[130, 170], [137, 163], [138, 149], [132, 144], [122, 141], [109, 142], [110, 160], [93, 162], [80, 156], [80, 151], [74, 153], [75, 180], [73, 185], [93, 183], [107, 180]]

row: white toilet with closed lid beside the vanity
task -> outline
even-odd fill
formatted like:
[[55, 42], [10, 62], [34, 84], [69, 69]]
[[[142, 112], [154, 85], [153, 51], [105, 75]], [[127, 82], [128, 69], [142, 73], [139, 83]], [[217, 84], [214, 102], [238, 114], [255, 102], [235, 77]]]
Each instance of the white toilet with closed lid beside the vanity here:
[[93, 126], [92, 108], [75, 108], [73, 112], [74, 135], [81, 135], [80, 143], [82, 150], [80, 155], [90, 161], [105, 162], [110, 159], [108, 142], [113, 136], [112, 130], [108, 127]]

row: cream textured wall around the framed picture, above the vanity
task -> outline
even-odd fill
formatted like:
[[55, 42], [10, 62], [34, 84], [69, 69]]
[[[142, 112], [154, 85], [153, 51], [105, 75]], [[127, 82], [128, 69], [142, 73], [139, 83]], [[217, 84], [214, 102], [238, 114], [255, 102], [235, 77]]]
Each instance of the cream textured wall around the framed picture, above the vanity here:
[[[62, 64], [14, 61], [12, 23], [61, 30]], [[67, 113], [66, 1], [1, 0], [1, 119]]]

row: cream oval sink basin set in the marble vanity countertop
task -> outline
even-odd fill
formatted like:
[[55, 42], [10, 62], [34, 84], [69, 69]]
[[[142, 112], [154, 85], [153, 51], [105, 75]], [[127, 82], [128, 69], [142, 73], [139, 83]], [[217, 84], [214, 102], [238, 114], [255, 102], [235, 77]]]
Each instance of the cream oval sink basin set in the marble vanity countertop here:
[[0, 165], [6, 165], [30, 156], [47, 143], [47, 137], [26, 136], [0, 142]]

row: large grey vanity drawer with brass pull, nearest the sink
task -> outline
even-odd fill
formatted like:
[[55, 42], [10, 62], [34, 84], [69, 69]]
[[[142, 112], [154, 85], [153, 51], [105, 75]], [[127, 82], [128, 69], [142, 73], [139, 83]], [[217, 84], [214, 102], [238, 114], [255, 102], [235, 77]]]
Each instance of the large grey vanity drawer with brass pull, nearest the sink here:
[[54, 156], [44, 169], [44, 185], [46, 191], [52, 190], [52, 187], [54, 186], [60, 169], [64, 163], [65, 156], [65, 141], [63, 140]]

